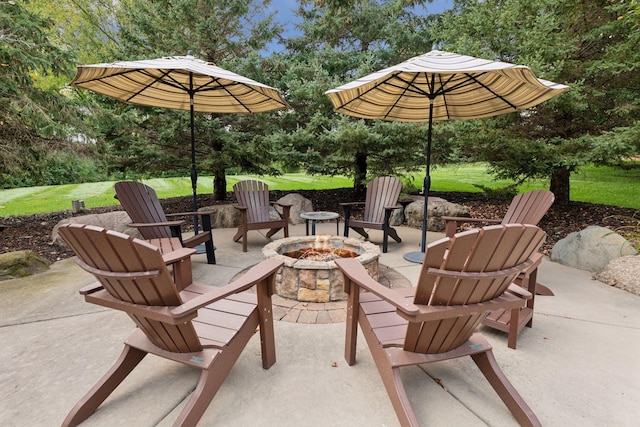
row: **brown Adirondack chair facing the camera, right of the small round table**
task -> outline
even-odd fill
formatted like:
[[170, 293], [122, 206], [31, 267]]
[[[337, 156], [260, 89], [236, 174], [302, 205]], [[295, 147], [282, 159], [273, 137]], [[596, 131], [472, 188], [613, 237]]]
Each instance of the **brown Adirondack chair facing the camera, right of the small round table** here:
[[[349, 228], [353, 228], [365, 239], [369, 238], [365, 228], [382, 230], [382, 252], [387, 252], [389, 236], [398, 243], [402, 242], [396, 229], [389, 225], [393, 210], [402, 207], [398, 204], [400, 191], [402, 182], [398, 178], [383, 176], [374, 178], [367, 184], [364, 202], [340, 203], [344, 208], [344, 237], [349, 237]], [[351, 208], [357, 205], [364, 205], [362, 220], [351, 218]]]

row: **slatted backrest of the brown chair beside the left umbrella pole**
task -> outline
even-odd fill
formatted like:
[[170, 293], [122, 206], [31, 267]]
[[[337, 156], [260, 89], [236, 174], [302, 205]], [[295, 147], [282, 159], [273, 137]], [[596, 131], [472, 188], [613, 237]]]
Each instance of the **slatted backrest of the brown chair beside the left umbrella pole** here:
[[[117, 182], [113, 189], [132, 222], [157, 223], [167, 221], [155, 190], [148, 185], [136, 181], [121, 181]], [[169, 227], [140, 227], [138, 230], [145, 239], [171, 237], [171, 229]]]

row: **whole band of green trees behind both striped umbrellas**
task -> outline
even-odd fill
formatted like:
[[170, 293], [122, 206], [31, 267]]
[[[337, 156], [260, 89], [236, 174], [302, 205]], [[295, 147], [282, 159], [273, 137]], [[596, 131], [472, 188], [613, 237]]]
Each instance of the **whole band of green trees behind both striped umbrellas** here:
[[[545, 186], [541, 180], [549, 180], [568, 200], [569, 177], [580, 182], [591, 173], [586, 165], [626, 168], [640, 151], [637, 0], [456, 0], [454, 10], [439, 16], [424, 13], [426, 0], [304, 0], [297, 10], [300, 33], [287, 40], [268, 3], [0, 2], [1, 185], [188, 175], [188, 113], [64, 87], [77, 61], [188, 50], [281, 89], [292, 107], [250, 116], [196, 114], [197, 168], [212, 174], [223, 192], [229, 172], [305, 170], [345, 175], [360, 186], [376, 175], [420, 176], [425, 126], [336, 114], [324, 92], [434, 43], [525, 64], [539, 77], [571, 86], [524, 114], [436, 123], [434, 166], [484, 161], [506, 182], [476, 184], [524, 187], [533, 179]], [[265, 49], [274, 40], [283, 46], [280, 53]], [[416, 181], [421, 187], [421, 178]], [[590, 196], [571, 190], [572, 197]]]

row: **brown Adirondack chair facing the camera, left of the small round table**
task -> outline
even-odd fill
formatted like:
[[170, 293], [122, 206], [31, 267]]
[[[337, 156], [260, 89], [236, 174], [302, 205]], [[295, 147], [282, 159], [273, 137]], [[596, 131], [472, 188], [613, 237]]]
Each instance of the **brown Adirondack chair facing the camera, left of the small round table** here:
[[[240, 211], [242, 224], [233, 236], [233, 241], [242, 239], [242, 250], [247, 252], [247, 232], [249, 230], [263, 230], [269, 228], [267, 238], [284, 228], [284, 237], [289, 237], [289, 211], [291, 205], [269, 201], [269, 186], [262, 181], [245, 180], [233, 186], [233, 192], [238, 201], [236, 209]], [[282, 207], [279, 219], [271, 219], [269, 208], [271, 205]]]

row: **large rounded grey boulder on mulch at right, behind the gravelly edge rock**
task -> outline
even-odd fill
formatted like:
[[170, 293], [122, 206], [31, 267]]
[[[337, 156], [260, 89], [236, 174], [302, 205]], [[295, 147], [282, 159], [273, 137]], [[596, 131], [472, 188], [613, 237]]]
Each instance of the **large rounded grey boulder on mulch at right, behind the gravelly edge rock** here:
[[599, 272], [615, 258], [637, 254], [631, 243], [618, 233], [605, 227], [590, 226], [559, 240], [551, 249], [551, 261]]

